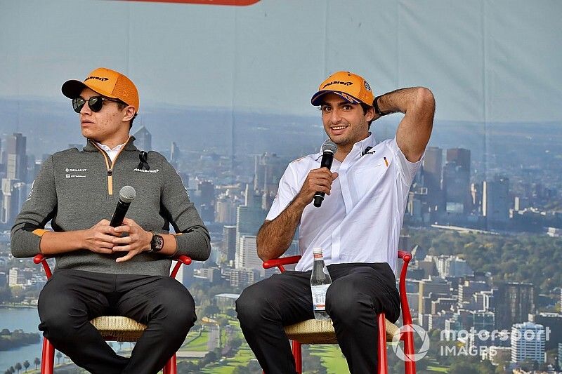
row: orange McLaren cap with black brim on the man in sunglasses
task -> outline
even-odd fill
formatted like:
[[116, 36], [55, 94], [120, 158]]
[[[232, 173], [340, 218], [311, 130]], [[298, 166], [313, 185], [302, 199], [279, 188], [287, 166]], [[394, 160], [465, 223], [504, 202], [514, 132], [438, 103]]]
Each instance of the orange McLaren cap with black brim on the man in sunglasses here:
[[107, 98], [119, 99], [127, 105], [132, 105], [135, 107], [135, 112], [138, 112], [138, 91], [131, 79], [124, 74], [98, 67], [88, 74], [84, 82], [76, 79], [65, 81], [62, 88], [63, 95], [70, 99], [77, 98], [86, 87]]

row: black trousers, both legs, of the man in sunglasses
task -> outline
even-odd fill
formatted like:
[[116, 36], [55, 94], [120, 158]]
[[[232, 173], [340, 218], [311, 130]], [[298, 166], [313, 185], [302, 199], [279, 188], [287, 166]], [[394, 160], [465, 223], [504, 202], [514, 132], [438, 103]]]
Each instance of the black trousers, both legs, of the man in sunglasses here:
[[[39, 330], [93, 374], [154, 374], [183, 344], [197, 320], [189, 291], [169, 276], [59, 269], [39, 295]], [[89, 321], [127, 316], [147, 325], [130, 358], [117, 355]]]

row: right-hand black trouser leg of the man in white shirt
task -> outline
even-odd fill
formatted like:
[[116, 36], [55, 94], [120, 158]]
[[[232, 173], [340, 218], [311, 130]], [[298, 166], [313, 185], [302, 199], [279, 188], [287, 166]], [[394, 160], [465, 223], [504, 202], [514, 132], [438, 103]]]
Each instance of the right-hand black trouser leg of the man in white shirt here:
[[351, 374], [377, 373], [377, 314], [396, 321], [400, 296], [390, 267], [385, 264], [330, 265], [332, 285], [326, 311], [334, 323], [341, 352]]

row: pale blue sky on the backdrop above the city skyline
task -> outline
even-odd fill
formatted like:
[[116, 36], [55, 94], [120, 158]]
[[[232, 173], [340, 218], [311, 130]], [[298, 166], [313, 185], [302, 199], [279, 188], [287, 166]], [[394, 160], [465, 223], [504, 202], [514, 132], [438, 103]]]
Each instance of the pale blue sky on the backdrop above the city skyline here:
[[261, 0], [253, 6], [0, 0], [0, 96], [66, 100], [98, 66], [143, 104], [316, 115], [340, 69], [427, 86], [436, 118], [561, 121], [562, 1]]

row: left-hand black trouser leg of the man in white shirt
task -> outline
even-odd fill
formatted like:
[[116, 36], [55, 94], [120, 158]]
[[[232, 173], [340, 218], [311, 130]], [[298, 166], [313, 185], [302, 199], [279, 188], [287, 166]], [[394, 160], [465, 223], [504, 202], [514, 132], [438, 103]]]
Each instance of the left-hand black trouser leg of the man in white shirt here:
[[283, 326], [314, 318], [311, 273], [285, 272], [246, 288], [236, 300], [240, 327], [267, 374], [296, 373]]

